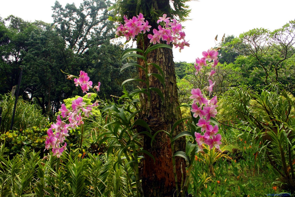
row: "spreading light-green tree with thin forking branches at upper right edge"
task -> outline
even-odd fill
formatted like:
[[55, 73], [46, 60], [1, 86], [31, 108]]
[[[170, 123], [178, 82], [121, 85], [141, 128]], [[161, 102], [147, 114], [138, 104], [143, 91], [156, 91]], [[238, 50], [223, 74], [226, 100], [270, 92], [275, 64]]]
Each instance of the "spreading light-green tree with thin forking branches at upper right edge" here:
[[256, 90], [261, 85], [280, 83], [294, 95], [294, 38], [295, 22], [290, 21], [272, 32], [263, 28], [249, 30], [224, 46], [244, 56], [236, 63]]

